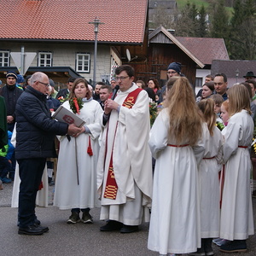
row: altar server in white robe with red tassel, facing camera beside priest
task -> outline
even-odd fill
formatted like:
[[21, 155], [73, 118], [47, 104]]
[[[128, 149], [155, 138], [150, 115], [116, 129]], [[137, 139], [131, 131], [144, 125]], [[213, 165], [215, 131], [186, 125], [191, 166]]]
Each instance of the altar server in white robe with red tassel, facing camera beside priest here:
[[[90, 208], [100, 207], [96, 194], [96, 163], [98, 160], [98, 137], [102, 131], [102, 108], [92, 99], [85, 79], [73, 83], [70, 99], [81, 100], [82, 108], [75, 113], [84, 120], [83, 131], [76, 137], [60, 137], [60, 151], [55, 182], [54, 205], [61, 210], [71, 209], [67, 224], [82, 221], [93, 222]], [[73, 111], [75, 104], [64, 102], [64, 108]], [[79, 212], [83, 212], [82, 218]]]

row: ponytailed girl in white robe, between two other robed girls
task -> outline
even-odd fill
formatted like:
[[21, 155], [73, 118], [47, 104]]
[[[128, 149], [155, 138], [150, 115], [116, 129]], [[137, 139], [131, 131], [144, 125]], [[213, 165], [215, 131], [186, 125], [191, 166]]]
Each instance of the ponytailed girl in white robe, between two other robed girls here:
[[216, 126], [216, 113], [211, 98], [198, 102], [207, 123], [206, 150], [201, 160], [198, 177], [201, 212], [201, 248], [189, 255], [213, 255], [212, 238], [219, 236], [218, 172], [223, 164], [223, 136]]

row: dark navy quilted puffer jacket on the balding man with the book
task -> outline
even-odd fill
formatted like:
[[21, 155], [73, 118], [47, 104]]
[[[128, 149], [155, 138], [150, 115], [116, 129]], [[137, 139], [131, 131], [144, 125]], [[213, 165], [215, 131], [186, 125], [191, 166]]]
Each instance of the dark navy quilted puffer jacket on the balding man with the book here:
[[67, 134], [68, 125], [51, 119], [46, 96], [27, 86], [16, 105], [17, 160], [55, 157], [55, 135]]

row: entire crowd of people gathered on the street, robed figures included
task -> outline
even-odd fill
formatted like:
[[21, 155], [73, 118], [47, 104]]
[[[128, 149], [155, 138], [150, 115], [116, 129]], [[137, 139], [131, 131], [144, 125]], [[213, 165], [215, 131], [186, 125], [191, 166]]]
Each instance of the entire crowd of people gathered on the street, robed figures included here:
[[[181, 67], [172, 62], [160, 88], [155, 78], [135, 83], [134, 69], [121, 65], [110, 85], [98, 82], [94, 91], [85, 79], [70, 78], [56, 92], [40, 72], [20, 88], [19, 75], [7, 73], [0, 172], [3, 183], [19, 176], [18, 234], [49, 231], [35, 207], [38, 190], [48, 185], [43, 173], [53, 182], [57, 157], [54, 205], [71, 210], [67, 224], [92, 224], [90, 209], [101, 207], [104, 232], [132, 233], [149, 222], [148, 249], [160, 255], [213, 255], [212, 240], [224, 253], [247, 251], [254, 234], [256, 76], [248, 72], [244, 83], [228, 88], [224, 73], [209, 74], [195, 96]], [[158, 105], [152, 127], [150, 102]], [[63, 122], [52, 118], [60, 106], [67, 109]]]

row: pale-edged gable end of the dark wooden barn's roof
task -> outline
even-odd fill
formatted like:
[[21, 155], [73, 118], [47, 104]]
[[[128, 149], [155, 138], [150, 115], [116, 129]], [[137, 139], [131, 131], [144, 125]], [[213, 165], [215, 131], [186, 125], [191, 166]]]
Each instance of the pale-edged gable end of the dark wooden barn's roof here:
[[[154, 38], [157, 38], [157, 35], [160, 34], [160, 33], [163, 33], [165, 36], [166, 36], [166, 39], [165, 42], [157, 42], [157, 41], [154, 41]], [[158, 28], [156, 28], [154, 30], [154, 32], [151, 32], [149, 35], [148, 35], [148, 40], [150, 43], [160, 43], [160, 44], [176, 44], [178, 48], [182, 49], [183, 52], [186, 54], [186, 55], [189, 55], [189, 57], [195, 61], [195, 63], [203, 68], [205, 65], [203, 62], [201, 62], [197, 56], [193, 55], [193, 53], [191, 53], [189, 51], [189, 49], [187, 49], [183, 44], [181, 44], [177, 38], [175, 38], [170, 32], [168, 32], [166, 30], [165, 27], [163, 26], [159, 26]]]

